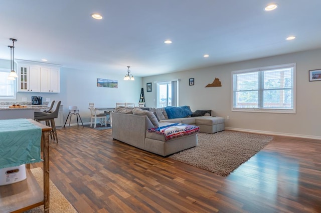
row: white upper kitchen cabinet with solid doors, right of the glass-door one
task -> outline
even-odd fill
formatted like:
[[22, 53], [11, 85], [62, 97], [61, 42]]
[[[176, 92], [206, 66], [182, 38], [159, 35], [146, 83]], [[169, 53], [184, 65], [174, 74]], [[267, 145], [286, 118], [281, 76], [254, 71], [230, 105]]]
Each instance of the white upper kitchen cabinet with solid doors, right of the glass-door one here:
[[41, 92], [60, 92], [60, 70], [41, 67]]

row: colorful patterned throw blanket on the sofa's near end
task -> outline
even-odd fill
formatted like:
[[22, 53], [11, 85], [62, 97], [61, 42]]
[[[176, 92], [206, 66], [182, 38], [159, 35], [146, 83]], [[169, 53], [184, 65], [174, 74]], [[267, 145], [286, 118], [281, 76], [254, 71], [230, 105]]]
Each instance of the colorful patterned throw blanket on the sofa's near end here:
[[156, 132], [157, 134], [164, 134], [165, 140], [170, 140], [172, 138], [193, 134], [194, 132], [199, 132], [200, 127], [196, 125], [189, 125], [183, 123], [173, 123], [157, 128], [149, 128], [148, 131]]

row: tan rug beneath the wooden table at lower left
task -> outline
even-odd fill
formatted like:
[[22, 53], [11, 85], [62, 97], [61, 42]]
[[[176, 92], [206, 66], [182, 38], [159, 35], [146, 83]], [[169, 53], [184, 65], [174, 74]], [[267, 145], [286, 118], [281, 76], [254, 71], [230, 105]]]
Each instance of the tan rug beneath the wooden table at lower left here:
[[[43, 170], [42, 168], [32, 168], [32, 173], [34, 174], [37, 182], [43, 187]], [[77, 213], [76, 209], [70, 204], [70, 202], [66, 199], [66, 197], [59, 191], [56, 185], [49, 180], [49, 187], [50, 187], [50, 204], [49, 204], [49, 212], [50, 213]], [[44, 205], [40, 205], [36, 208], [30, 209], [25, 211], [25, 213], [41, 213], [44, 212]]]

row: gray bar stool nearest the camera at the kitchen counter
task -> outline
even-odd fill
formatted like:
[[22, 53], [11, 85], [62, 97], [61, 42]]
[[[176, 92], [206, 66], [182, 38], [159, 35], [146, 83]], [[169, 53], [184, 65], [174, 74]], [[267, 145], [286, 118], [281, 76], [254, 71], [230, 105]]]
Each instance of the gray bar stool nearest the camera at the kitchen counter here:
[[45, 121], [46, 124], [48, 123], [47, 124], [48, 126], [52, 127], [49, 133], [51, 135], [51, 138], [56, 140], [57, 143], [58, 143], [58, 136], [56, 131], [55, 118], [58, 117], [60, 104], [61, 104], [61, 100], [57, 102], [56, 106], [54, 107], [55, 108], [54, 110], [51, 110], [50, 112], [39, 112], [35, 114], [35, 120], [37, 120], [38, 122]]

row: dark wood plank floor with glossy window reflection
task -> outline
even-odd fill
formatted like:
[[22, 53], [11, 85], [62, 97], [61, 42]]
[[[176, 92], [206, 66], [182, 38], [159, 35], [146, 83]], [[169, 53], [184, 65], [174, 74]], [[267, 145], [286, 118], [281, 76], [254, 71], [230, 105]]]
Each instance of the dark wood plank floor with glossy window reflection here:
[[111, 129], [57, 131], [50, 178], [79, 212], [321, 212], [320, 140], [275, 136], [222, 177], [113, 140]]

